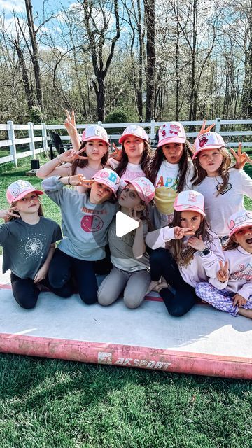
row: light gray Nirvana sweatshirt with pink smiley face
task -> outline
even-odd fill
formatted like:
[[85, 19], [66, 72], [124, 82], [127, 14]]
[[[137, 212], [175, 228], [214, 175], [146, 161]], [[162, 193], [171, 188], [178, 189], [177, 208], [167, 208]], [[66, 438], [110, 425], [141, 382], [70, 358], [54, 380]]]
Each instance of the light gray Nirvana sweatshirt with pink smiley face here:
[[86, 193], [64, 188], [58, 176], [42, 182], [45, 193], [59, 205], [64, 239], [58, 248], [73, 258], [87, 261], [105, 258], [107, 233], [116, 204], [92, 204]]

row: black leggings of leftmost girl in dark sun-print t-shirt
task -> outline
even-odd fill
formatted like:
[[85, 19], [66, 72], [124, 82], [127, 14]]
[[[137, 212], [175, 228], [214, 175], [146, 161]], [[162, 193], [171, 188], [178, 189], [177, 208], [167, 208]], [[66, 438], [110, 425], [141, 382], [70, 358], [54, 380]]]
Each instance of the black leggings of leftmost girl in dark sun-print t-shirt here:
[[[33, 279], [20, 279], [20, 277], [16, 276], [11, 272], [10, 281], [13, 288], [13, 295], [15, 301], [18, 302], [20, 307], [25, 309], [34, 308], [36, 302], [38, 300], [38, 295], [40, 293], [40, 289], [37, 286], [37, 283], [34, 283]], [[67, 283], [62, 286], [62, 288], [52, 288], [50, 285], [48, 278], [40, 281], [39, 284], [47, 286], [50, 288], [52, 293], [59, 295], [60, 297], [70, 297], [73, 294], [73, 287], [71, 283]]]

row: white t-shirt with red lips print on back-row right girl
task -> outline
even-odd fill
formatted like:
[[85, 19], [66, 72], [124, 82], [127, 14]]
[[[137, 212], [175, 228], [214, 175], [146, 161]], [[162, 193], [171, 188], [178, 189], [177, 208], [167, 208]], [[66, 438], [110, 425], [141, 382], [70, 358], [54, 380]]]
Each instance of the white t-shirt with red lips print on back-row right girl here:
[[231, 168], [228, 185], [216, 196], [223, 180], [221, 176], [205, 177], [193, 190], [204, 195], [207, 221], [219, 237], [229, 235], [228, 218], [237, 211], [244, 210], [244, 195], [252, 197], [252, 179], [243, 169]]

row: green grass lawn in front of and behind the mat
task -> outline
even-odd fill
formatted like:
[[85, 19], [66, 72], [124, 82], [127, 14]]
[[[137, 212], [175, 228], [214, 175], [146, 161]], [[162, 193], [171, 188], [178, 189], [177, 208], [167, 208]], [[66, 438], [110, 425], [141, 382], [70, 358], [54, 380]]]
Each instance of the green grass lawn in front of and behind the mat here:
[[[1, 174], [0, 207], [27, 169]], [[252, 447], [250, 381], [6, 354], [0, 372], [1, 448]]]

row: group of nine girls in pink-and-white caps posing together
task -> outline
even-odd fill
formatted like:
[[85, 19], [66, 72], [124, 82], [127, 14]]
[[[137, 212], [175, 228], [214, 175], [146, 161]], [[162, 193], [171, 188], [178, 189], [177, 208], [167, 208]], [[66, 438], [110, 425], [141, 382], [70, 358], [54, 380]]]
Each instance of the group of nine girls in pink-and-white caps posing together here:
[[[10, 208], [0, 211], [3, 272], [11, 271], [15, 300], [32, 308], [49, 287], [61, 297], [78, 292], [86, 304], [109, 305], [123, 293], [136, 308], [154, 289], [172, 316], [200, 297], [252, 318], [252, 212], [244, 210], [252, 180], [242, 169], [251, 161], [241, 146], [232, 167], [212, 126], [202, 125], [192, 149], [183, 125], [169, 122], [155, 151], [144, 129], [130, 125], [122, 149], [109, 153], [103, 127], [87, 126], [80, 143], [73, 113], [65, 125], [73, 149], [37, 172], [61, 209], [64, 238], [42, 216], [43, 192], [27, 181], [8, 187]], [[124, 237], [116, 235], [119, 209], [139, 223]], [[110, 272], [98, 288], [99, 260]]]

